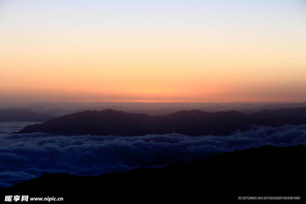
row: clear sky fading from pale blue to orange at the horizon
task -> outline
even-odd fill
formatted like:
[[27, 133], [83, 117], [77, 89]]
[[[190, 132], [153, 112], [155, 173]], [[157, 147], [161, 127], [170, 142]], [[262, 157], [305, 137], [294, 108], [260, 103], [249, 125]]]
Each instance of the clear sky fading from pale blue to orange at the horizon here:
[[306, 102], [305, 82], [305, 0], [0, 0], [0, 102]]

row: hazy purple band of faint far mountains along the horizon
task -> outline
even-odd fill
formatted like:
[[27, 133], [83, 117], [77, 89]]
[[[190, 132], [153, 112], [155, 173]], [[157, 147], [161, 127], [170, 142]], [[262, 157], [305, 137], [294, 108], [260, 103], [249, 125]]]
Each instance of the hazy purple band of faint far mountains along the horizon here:
[[0, 102], [0, 109], [29, 108], [36, 113], [63, 116], [85, 110], [113, 109], [127, 113], [144, 113], [149, 116], [168, 115], [180, 110], [201, 110], [208, 113], [236, 110], [241, 113], [255, 113], [263, 109], [302, 108], [306, 103], [284, 102], [235, 102], [235, 103], [198, 103], [198, 102]]

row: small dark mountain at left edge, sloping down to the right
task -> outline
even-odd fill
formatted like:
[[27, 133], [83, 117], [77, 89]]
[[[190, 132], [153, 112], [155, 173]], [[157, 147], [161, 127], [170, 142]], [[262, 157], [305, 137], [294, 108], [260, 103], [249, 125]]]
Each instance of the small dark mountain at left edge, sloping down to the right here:
[[46, 122], [58, 117], [36, 113], [28, 108], [0, 109], [0, 122], [4, 121], [34, 121]]

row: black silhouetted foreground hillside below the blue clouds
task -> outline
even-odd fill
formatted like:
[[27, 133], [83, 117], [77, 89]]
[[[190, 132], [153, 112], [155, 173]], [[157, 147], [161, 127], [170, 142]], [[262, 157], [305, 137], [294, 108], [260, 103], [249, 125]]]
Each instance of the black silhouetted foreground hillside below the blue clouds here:
[[[243, 196], [292, 196], [305, 200], [306, 146], [264, 145], [221, 153], [187, 164], [134, 169], [100, 176], [50, 174], [2, 188], [5, 195], [62, 197], [66, 202], [125, 202], [195, 199], [238, 201]], [[300, 201], [299, 200], [299, 201]]]

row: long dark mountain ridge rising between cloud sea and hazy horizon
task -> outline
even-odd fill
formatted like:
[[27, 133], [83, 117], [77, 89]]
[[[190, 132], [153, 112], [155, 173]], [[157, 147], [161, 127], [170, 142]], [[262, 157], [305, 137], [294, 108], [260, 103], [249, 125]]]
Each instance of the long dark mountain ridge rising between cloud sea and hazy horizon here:
[[106, 109], [83, 111], [29, 125], [14, 133], [45, 132], [65, 135], [121, 135], [179, 133], [183, 135], [230, 135], [237, 129], [244, 131], [251, 125], [306, 124], [306, 107], [294, 109], [262, 110], [252, 114], [238, 111], [207, 113], [185, 110], [166, 116], [148, 116]]

